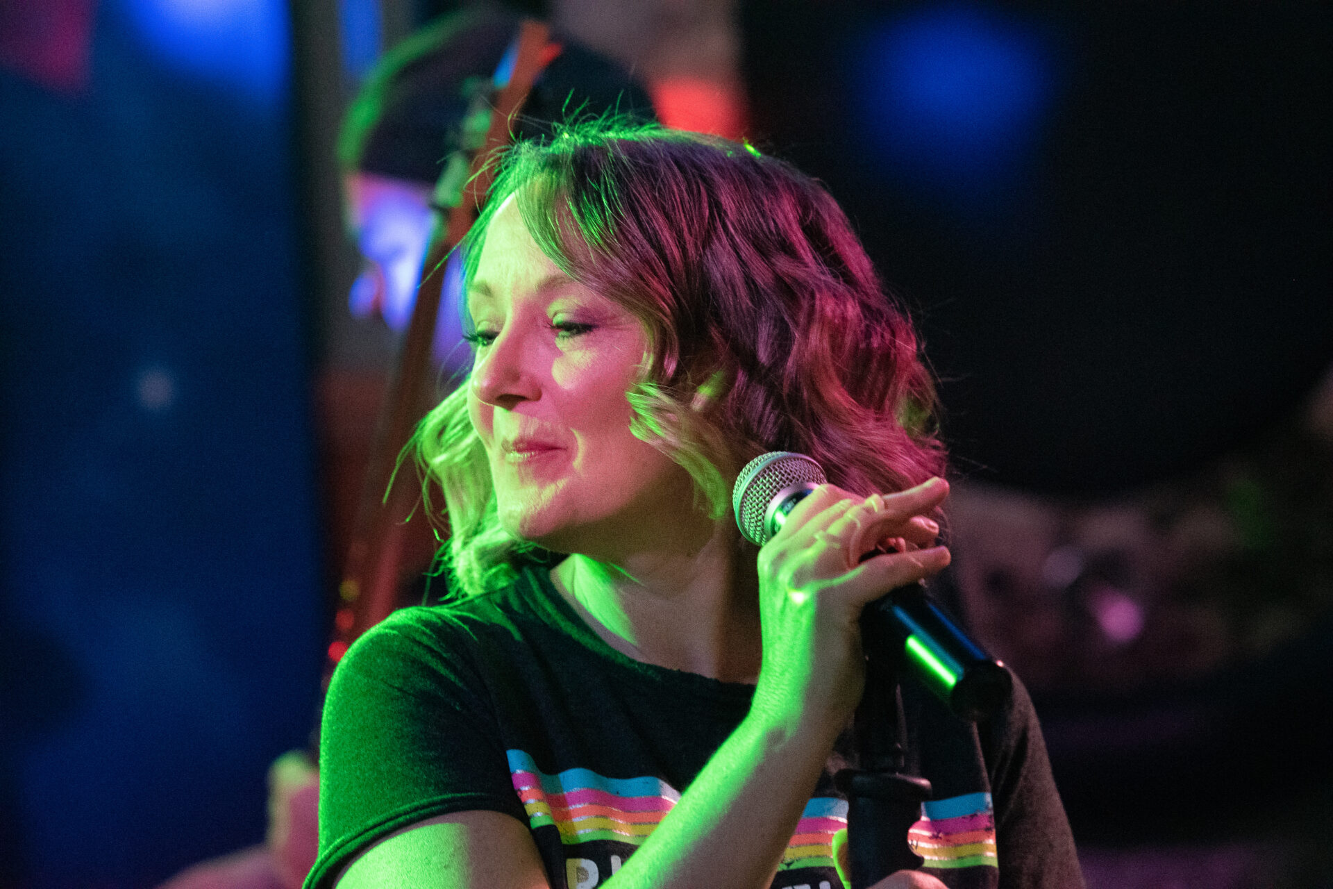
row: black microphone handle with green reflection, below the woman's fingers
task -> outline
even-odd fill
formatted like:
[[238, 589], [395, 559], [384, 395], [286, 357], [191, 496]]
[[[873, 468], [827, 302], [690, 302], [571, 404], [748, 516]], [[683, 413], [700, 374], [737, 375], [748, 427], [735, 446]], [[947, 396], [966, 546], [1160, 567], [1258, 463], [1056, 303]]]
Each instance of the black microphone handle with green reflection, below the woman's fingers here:
[[1004, 662], [968, 638], [924, 582], [898, 586], [866, 605], [861, 625], [873, 630], [865, 634], [870, 657], [905, 664], [954, 716], [976, 722], [1008, 702], [1013, 677]]

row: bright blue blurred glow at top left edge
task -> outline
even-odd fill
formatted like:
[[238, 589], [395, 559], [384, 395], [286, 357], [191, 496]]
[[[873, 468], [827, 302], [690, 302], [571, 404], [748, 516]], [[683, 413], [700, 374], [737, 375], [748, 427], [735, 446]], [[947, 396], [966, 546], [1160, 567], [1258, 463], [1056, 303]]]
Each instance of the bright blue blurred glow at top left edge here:
[[121, 0], [143, 37], [177, 69], [275, 105], [287, 95], [283, 0]]

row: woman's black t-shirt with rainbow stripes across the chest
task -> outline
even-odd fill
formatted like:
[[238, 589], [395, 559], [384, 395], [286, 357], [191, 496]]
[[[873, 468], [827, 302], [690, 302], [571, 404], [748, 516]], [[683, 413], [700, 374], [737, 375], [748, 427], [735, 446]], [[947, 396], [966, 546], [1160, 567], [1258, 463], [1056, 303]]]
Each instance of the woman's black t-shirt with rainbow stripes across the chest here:
[[[604, 882], [745, 717], [753, 686], [616, 652], [545, 568], [459, 604], [396, 612], [344, 656], [324, 706], [320, 857], [307, 889], [389, 833], [487, 809], [527, 824], [553, 889]], [[1036, 714], [981, 726], [904, 681], [909, 768], [933, 801], [909, 840], [949, 886], [1081, 886]], [[980, 730], [978, 730], [980, 729]], [[840, 889], [838, 742], [774, 889]]]

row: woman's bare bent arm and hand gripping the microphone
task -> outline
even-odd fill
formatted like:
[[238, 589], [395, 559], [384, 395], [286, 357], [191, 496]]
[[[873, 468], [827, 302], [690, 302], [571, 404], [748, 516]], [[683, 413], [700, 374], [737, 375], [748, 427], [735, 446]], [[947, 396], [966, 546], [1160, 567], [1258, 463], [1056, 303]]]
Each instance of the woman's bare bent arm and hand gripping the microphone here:
[[[948, 564], [942, 548], [877, 556], [856, 565], [868, 538], [932, 541], [922, 517], [944, 482], [862, 502], [825, 485], [790, 514], [760, 553], [764, 664], [745, 720], [709, 758], [607, 889], [764, 889], [772, 884], [833, 741], [860, 698], [857, 618], [884, 592]], [[497, 862], [497, 860], [504, 860]], [[364, 876], [363, 876], [364, 874]], [[348, 886], [532, 889], [547, 885], [527, 828], [509, 816], [465, 812], [393, 834], [347, 870]], [[361, 882], [369, 880], [369, 882]], [[889, 886], [940, 886], [898, 874]]]

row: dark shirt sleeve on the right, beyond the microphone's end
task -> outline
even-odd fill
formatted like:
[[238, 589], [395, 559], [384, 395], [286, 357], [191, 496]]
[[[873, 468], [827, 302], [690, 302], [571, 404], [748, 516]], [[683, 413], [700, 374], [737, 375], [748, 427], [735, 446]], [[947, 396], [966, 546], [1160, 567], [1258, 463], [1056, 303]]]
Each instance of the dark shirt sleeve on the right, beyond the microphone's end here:
[[994, 798], [1001, 889], [1081, 889], [1082, 872], [1041, 725], [1017, 678], [1009, 709], [977, 729]]

